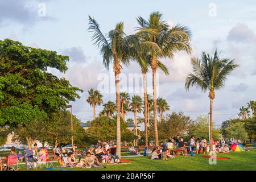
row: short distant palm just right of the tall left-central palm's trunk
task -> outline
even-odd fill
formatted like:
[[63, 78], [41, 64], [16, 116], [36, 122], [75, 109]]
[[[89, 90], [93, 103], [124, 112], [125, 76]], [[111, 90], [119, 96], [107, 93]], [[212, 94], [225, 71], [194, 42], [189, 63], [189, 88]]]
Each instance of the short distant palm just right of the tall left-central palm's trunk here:
[[[134, 112], [134, 127], [135, 127], [135, 135], [138, 136], [137, 130], [137, 112], [141, 113], [143, 101], [140, 96], [133, 96], [131, 98], [131, 111]], [[138, 144], [138, 139], [136, 140], [136, 145]]]

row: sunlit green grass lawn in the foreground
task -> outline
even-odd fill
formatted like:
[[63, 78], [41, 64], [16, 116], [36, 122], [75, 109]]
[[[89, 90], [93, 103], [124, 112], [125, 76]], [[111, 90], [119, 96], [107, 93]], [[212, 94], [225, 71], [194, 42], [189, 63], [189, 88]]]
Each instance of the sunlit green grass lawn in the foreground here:
[[[151, 160], [150, 156], [146, 157], [135, 157], [135, 158], [125, 158], [132, 160], [131, 164], [126, 165], [106, 165], [106, 168], [65, 168], [72, 170], [114, 170], [114, 171], [163, 171], [163, 170], [256, 170], [256, 150], [246, 151], [246, 152], [230, 152], [229, 154], [217, 154], [217, 156], [222, 156], [229, 158], [228, 160], [217, 159], [216, 165], [210, 165], [208, 159], [203, 158], [203, 155], [196, 156], [178, 156], [175, 159], [168, 159], [168, 161], [163, 160]], [[55, 168], [60, 168], [57, 163], [54, 163]], [[24, 169], [24, 166], [20, 165], [20, 169]]]

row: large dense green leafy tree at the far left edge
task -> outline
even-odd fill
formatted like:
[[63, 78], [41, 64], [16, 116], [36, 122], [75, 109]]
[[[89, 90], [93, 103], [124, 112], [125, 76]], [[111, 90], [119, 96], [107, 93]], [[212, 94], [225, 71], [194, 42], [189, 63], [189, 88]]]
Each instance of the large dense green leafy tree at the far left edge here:
[[67, 71], [68, 56], [55, 51], [0, 40], [0, 125], [19, 125], [51, 117], [51, 113], [80, 98], [65, 78], [47, 72]]

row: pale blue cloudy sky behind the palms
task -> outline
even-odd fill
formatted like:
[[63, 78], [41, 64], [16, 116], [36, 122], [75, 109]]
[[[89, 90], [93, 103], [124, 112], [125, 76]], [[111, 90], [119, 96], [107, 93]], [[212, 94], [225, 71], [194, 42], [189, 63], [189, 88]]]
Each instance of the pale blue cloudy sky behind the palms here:
[[[118, 22], [125, 23], [127, 35], [133, 34], [138, 15], [148, 18], [152, 11], [163, 13], [170, 25], [188, 26], [192, 31], [192, 55], [178, 52], [172, 59], [162, 60], [170, 76], [159, 72], [159, 96], [166, 98], [172, 111], [184, 111], [193, 119], [209, 112], [208, 93], [185, 91], [185, 76], [191, 72], [192, 56], [202, 51], [235, 59], [240, 68], [229, 76], [226, 86], [216, 92], [213, 119], [217, 126], [236, 118], [238, 109], [249, 100], [256, 100], [256, 5], [255, 1], [66, 1], [32, 0], [0, 2], [0, 39], [14, 39], [26, 46], [44, 48], [68, 55], [68, 72], [49, 72], [66, 77], [72, 85], [84, 89], [81, 99], [73, 102], [75, 115], [85, 122], [92, 119], [92, 108], [86, 103], [87, 90], [97, 89], [101, 78], [112, 86], [113, 72], [106, 70], [97, 47], [88, 32], [88, 15], [108, 32]], [[110, 67], [112, 68], [112, 66]], [[137, 64], [124, 67], [123, 85], [129, 86], [128, 73], [140, 73]], [[126, 80], [126, 83], [124, 83]], [[150, 79], [149, 79], [150, 80]], [[106, 86], [106, 85], [105, 85]], [[113, 87], [113, 86], [112, 86]], [[148, 82], [151, 88], [151, 82]], [[123, 86], [126, 89], [126, 86]], [[110, 89], [111, 90], [111, 89]], [[103, 92], [103, 91], [102, 91]], [[134, 92], [130, 92], [131, 96]], [[115, 101], [113, 92], [104, 91], [104, 102]], [[141, 93], [138, 93], [142, 96]], [[97, 107], [97, 113], [102, 107]], [[130, 118], [133, 114], [129, 114]]]

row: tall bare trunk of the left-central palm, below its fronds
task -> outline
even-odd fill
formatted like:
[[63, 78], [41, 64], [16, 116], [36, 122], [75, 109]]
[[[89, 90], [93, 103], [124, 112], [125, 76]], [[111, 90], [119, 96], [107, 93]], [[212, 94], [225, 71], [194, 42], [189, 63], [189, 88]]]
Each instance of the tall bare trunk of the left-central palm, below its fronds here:
[[115, 73], [115, 89], [117, 102], [117, 155], [121, 158], [121, 126], [120, 126], [120, 85], [119, 73]]

